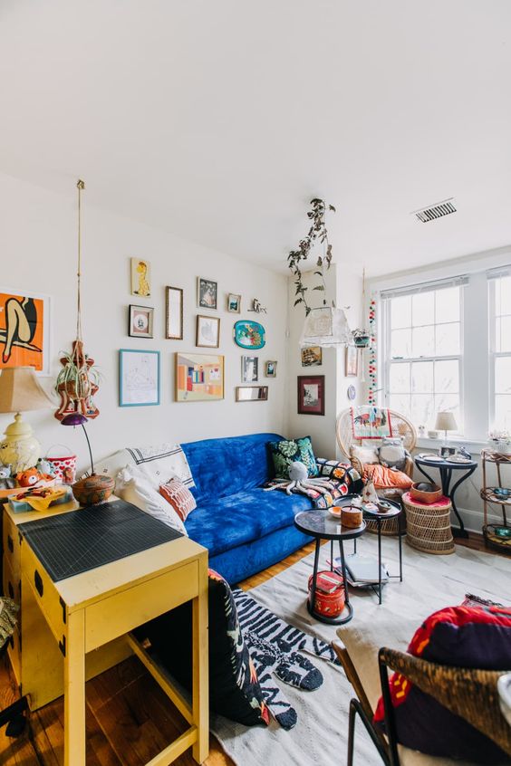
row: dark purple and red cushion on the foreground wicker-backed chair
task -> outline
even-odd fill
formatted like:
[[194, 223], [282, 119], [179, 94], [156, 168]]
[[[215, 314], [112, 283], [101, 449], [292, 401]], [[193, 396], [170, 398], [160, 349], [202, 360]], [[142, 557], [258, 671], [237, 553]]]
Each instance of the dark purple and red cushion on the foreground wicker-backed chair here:
[[[511, 608], [448, 607], [432, 614], [416, 631], [408, 651], [430, 662], [500, 670], [511, 667]], [[485, 734], [450, 713], [408, 679], [389, 681], [398, 740], [428, 755], [477, 763], [506, 762], [506, 754]], [[385, 730], [383, 701], [374, 721]]]

